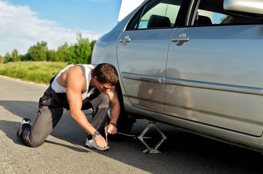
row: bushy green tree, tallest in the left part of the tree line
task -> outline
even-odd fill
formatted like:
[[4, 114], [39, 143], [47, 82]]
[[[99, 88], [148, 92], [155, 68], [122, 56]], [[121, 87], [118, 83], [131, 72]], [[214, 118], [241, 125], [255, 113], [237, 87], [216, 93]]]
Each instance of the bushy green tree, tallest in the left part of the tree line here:
[[46, 61], [47, 60], [47, 42], [37, 42], [36, 45], [31, 46], [27, 53], [31, 56], [33, 61]]

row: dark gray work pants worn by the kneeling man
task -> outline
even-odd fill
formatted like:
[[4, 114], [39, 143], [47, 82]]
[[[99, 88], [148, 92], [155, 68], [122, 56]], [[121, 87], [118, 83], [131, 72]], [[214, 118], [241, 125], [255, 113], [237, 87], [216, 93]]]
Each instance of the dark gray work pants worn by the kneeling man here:
[[[93, 93], [89, 98], [82, 101], [82, 110], [93, 109], [90, 123], [101, 134], [108, 119], [109, 96], [106, 92]], [[42, 145], [47, 136], [55, 128], [62, 115], [69, 109], [66, 93], [56, 93], [51, 86], [39, 99], [39, 110], [36, 114], [33, 126], [25, 124], [20, 126], [17, 136], [26, 146], [38, 147]]]

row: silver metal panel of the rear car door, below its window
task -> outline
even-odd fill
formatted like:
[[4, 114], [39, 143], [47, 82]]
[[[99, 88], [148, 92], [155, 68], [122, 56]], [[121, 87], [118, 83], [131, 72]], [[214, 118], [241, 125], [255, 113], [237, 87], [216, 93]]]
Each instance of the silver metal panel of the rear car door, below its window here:
[[[165, 77], [168, 44], [173, 31], [174, 28], [146, 29], [121, 34], [120, 39], [128, 36], [131, 39], [125, 45], [117, 44], [117, 57], [125, 90], [135, 107], [164, 113], [164, 84], [158, 79]], [[157, 82], [136, 75], [156, 77]]]

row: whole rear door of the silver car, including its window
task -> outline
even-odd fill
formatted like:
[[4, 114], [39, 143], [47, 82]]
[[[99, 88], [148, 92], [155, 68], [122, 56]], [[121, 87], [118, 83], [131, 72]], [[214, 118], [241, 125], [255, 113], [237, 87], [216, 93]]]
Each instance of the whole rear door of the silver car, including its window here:
[[133, 106], [164, 113], [168, 44], [182, 0], [149, 0], [117, 44], [123, 85]]

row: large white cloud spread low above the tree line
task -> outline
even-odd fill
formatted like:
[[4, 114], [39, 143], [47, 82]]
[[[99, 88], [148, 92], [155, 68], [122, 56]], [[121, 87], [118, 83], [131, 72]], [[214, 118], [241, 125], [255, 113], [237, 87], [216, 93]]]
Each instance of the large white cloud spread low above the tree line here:
[[63, 28], [56, 22], [40, 19], [26, 5], [12, 5], [0, 1], [0, 55], [16, 48], [19, 54], [25, 54], [27, 49], [37, 41], [46, 41], [49, 49], [57, 49], [65, 42], [76, 42], [76, 33], [83, 37], [97, 40], [99, 35], [81, 29]]

